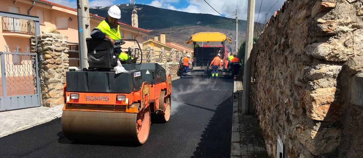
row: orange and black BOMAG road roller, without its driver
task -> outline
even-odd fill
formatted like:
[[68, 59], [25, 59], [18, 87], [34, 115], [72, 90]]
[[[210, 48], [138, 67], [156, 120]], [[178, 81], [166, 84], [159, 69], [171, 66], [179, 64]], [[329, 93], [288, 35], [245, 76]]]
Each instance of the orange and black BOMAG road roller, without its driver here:
[[69, 140], [141, 145], [151, 117], [169, 120], [171, 76], [158, 63], [142, 63], [138, 41], [121, 44], [127, 40], [138, 46], [124, 51], [131, 61], [122, 64], [127, 72], [115, 73], [118, 59], [109, 39], [92, 38], [86, 39], [89, 67], [66, 72], [62, 129]]

